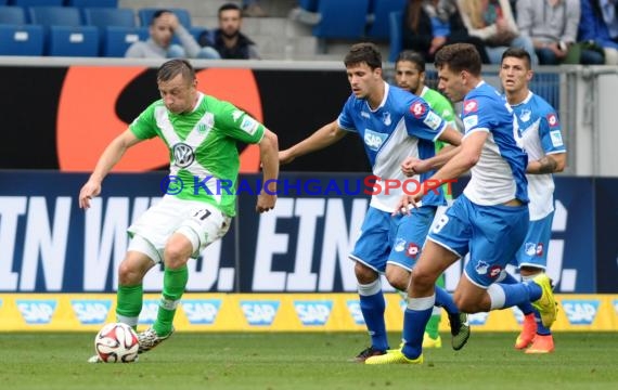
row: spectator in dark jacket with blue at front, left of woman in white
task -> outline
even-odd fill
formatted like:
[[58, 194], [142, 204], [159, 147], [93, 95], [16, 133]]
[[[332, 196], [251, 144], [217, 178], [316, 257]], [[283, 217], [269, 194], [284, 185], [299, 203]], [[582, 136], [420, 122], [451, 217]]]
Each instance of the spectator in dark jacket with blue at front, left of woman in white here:
[[422, 53], [427, 62], [445, 44], [472, 43], [485, 64], [485, 43], [465, 28], [453, 0], [408, 0], [402, 23], [403, 48]]

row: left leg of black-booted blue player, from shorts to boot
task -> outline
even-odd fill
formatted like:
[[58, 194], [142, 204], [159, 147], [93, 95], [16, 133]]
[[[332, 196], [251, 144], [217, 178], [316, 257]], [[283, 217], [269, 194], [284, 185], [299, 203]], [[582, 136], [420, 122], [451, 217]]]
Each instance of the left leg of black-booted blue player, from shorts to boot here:
[[389, 232], [391, 223], [396, 223], [392, 220], [388, 212], [370, 207], [361, 226], [362, 233], [349, 256], [350, 260], [356, 262], [360, 309], [371, 337], [371, 346], [355, 358], [357, 362], [384, 354], [389, 348], [384, 321], [386, 302], [379, 272], [386, 269], [386, 259], [390, 251]]

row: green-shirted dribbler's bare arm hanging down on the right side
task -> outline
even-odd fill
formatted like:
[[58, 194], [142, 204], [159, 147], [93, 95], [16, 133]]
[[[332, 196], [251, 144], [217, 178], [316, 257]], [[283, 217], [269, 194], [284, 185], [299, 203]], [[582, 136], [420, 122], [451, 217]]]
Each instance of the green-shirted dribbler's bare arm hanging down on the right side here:
[[276, 203], [276, 179], [279, 178], [279, 141], [276, 134], [265, 128], [263, 136], [258, 146], [266, 188], [258, 195], [256, 211], [265, 212], [272, 210]]

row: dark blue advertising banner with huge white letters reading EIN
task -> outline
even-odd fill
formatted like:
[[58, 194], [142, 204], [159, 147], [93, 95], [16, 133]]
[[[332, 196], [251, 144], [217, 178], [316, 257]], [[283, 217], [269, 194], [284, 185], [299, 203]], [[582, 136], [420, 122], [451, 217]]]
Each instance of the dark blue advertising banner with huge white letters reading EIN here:
[[[85, 212], [77, 196], [87, 179], [81, 173], [0, 171], [0, 291], [116, 289], [126, 230], [162, 197], [166, 173], [111, 174], [102, 196]], [[275, 209], [258, 214], [259, 176], [241, 177], [239, 216], [221, 242], [190, 261], [190, 291], [356, 291], [347, 256], [369, 205], [366, 178], [282, 173], [281, 180]], [[616, 186], [618, 180], [608, 182]], [[556, 178], [548, 272], [558, 292], [597, 290], [594, 190], [592, 179]], [[448, 273], [447, 286], [456, 285], [459, 276]], [[162, 284], [159, 266], [149, 272], [144, 289], [158, 291]]]

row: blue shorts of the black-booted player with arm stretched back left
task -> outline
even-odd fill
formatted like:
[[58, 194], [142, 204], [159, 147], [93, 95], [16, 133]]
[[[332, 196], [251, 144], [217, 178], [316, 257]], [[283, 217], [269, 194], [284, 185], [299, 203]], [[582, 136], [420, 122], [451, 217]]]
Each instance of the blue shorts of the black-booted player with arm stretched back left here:
[[410, 216], [391, 217], [390, 212], [370, 207], [350, 259], [381, 273], [387, 262], [411, 271], [435, 213], [436, 207], [425, 206], [411, 210]]

